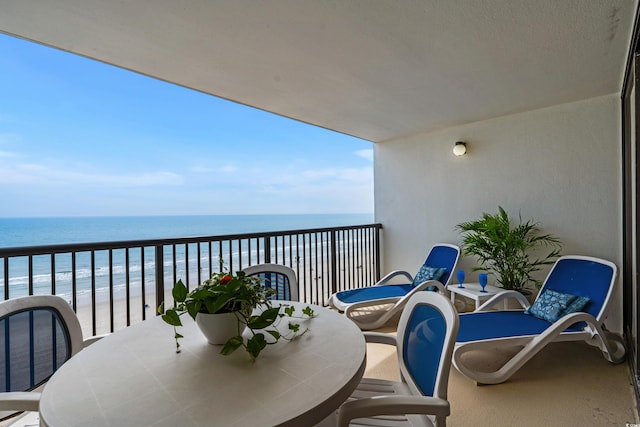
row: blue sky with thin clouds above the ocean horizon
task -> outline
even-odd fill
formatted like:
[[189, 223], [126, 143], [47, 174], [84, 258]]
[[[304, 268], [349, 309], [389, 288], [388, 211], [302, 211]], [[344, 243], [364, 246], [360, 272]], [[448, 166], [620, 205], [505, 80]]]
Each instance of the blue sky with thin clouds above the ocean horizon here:
[[0, 34], [0, 217], [373, 212], [373, 144]]

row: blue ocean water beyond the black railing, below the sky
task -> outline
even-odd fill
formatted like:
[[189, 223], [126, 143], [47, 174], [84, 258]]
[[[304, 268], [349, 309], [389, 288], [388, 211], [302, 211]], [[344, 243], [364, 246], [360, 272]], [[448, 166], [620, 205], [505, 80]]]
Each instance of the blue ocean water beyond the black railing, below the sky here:
[[[0, 248], [40, 246], [66, 243], [111, 242], [126, 240], [166, 239], [174, 237], [216, 236], [253, 232], [299, 230], [307, 228], [339, 227], [370, 224], [372, 214], [325, 214], [325, 215], [210, 215], [210, 216], [149, 216], [149, 217], [77, 217], [77, 218], [0, 218]], [[326, 242], [320, 242], [324, 244]], [[217, 259], [217, 248], [212, 249], [213, 259]], [[227, 256], [246, 260], [251, 254], [237, 245]], [[107, 289], [110, 278], [116, 291], [122, 291], [128, 274], [132, 283], [143, 282], [147, 288], [154, 286], [155, 254], [153, 251], [131, 250], [127, 262], [125, 250], [114, 250], [112, 267], [109, 268], [109, 253], [98, 251], [91, 259], [90, 253], [76, 256], [75, 279], [79, 293], [88, 293], [93, 287]], [[165, 283], [172, 281], [173, 253], [165, 250]], [[209, 253], [203, 249], [203, 262], [208, 262]], [[196, 251], [191, 249], [188, 258], [190, 269], [186, 271], [184, 246], [176, 247], [178, 276], [196, 274], [191, 270], [197, 265]], [[93, 267], [92, 267], [93, 264]], [[246, 264], [245, 264], [246, 265]], [[8, 284], [10, 296], [28, 294], [29, 266], [25, 257], [9, 261]], [[0, 259], [0, 273], [4, 261]], [[33, 257], [34, 293], [51, 291], [52, 266], [50, 256]], [[93, 280], [93, 282], [92, 282]], [[54, 281], [56, 293], [70, 295], [72, 292], [71, 255], [55, 257]], [[4, 292], [4, 276], [0, 274], [0, 292]], [[140, 292], [142, 286], [133, 292]]]

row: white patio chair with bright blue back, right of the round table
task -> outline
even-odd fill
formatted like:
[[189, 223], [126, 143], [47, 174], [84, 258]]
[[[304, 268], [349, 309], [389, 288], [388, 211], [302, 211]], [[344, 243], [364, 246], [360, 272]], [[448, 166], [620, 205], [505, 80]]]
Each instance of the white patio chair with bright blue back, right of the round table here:
[[444, 427], [457, 333], [455, 308], [436, 292], [419, 292], [409, 299], [397, 337], [365, 332], [367, 342], [397, 346], [401, 381], [363, 378], [338, 410], [338, 425]]

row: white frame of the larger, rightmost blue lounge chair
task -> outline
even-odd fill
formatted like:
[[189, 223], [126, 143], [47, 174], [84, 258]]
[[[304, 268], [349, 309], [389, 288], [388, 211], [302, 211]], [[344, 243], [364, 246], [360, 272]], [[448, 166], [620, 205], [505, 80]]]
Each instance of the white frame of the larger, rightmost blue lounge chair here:
[[[458, 371], [475, 380], [478, 384], [499, 384], [508, 380], [547, 344], [550, 342], [563, 341], [584, 341], [589, 345], [598, 347], [602, 351], [605, 359], [611, 363], [621, 363], [625, 360], [626, 351], [622, 339], [607, 331], [603, 323], [611, 295], [615, 289], [615, 283], [617, 280], [616, 265], [610, 261], [588, 256], [563, 256], [556, 261], [556, 264], [549, 272], [549, 275], [545, 280], [545, 285], [540, 290], [540, 293], [544, 291], [547, 281], [549, 280], [549, 277], [552, 276], [558, 263], [563, 260], [591, 261], [611, 268], [611, 281], [608, 284], [609, 287], [606, 297], [597, 315], [593, 316], [592, 314], [584, 312], [569, 314], [560, 318], [544, 330], [544, 332], [537, 335], [522, 335], [456, 343], [453, 353], [453, 364]], [[504, 301], [509, 299], [519, 302], [522, 307], [522, 311], [530, 306], [528, 300], [521, 293], [516, 291], [503, 291], [486, 301], [475, 312], [461, 314], [460, 316], [474, 316], [475, 313], [493, 310], [498, 304], [503, 304]], [[579, 322], [585, 323], [584, 328], [581, 330], [566, 330], [571, 325]], [[464, 354], [473, 350], [495, 350], [513, 346], [522, 346], [522, 349], [494, 372], [480, 372], [474, 370], [463, 361]]]

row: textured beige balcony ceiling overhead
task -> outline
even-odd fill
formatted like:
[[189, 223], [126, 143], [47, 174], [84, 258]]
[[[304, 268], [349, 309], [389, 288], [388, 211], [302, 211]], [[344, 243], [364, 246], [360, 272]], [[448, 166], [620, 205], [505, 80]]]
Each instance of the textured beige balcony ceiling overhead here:
[[373, 142], [620, 92], [636, 0], [0, 0], [0, 31]]

